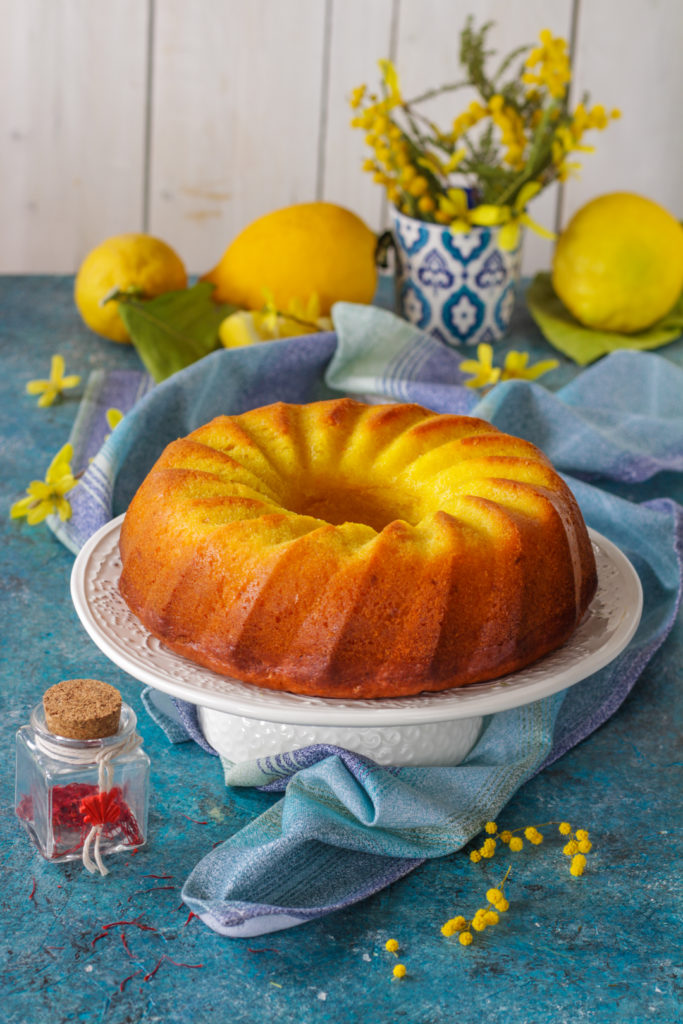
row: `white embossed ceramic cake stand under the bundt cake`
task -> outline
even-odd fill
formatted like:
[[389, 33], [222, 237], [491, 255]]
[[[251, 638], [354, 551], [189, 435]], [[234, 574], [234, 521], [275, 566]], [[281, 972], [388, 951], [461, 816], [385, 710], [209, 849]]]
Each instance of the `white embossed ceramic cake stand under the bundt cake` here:
[[615, 545], [591, 530], [598, 591], [570, 640], [520, 672], [440, 693], [348, 700], [265, 690], [204, 669], [153, 637], [119, 594], [123, 516], [80, 551], [71, 592], [99, 649], [134, 679], [198, 706], [206, 738], [232, 762], [334, 743], [380, 764], [456, 765], [472, 749], [484, 715], [530, 703], [608, 665], [633, 637], [642, 588]]

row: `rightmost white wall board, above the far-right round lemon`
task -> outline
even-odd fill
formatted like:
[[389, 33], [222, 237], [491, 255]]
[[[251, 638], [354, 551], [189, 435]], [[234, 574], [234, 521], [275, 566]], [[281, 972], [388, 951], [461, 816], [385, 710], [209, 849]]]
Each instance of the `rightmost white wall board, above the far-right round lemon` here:
[[[635, 191], [683, 218], [683, 3], [590, 0], [580, 8], [572, 98], [616, 106], [622, 119], [590, 132], [579, 180], [565, 187], [563, 221], [589, 200]], [[582, 159], [585, 156], [585, 159]]]

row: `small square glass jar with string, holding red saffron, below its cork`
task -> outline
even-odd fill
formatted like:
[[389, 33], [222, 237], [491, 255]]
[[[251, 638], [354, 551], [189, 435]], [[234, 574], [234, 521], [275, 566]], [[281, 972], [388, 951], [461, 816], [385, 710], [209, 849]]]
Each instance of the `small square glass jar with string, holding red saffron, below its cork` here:
[[[50, 732], [42, 703], [16, 733], [14, 809], [47, 860], [83, 859], [142, 846], [147, 831], [150, 758], [123, 702], [118, 731], [99, 739]], [[93, 864], [90, 851], [95, 854]]]

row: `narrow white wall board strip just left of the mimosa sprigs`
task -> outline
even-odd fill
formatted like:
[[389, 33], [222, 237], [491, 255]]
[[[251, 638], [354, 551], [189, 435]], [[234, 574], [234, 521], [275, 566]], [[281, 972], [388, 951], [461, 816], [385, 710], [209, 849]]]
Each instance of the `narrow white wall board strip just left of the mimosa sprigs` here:
[[364, 132], [351, 128], [353, 89], [378, 80], [377, 61], [390, 56], [392, 10], [398, 0], [333, 0], [330, 84], [325, 125], [323, 199], [353, 210], [373, 230], [382, 226], [383, 189], [361, 170]]

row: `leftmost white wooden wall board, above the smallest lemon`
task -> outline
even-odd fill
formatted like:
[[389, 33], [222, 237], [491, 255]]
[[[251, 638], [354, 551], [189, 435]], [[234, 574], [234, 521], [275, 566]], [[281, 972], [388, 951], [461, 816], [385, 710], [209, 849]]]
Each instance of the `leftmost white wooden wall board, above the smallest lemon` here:
[[147, 5], [0, 2], [0, 271], [71, 272], [141, 228]]

